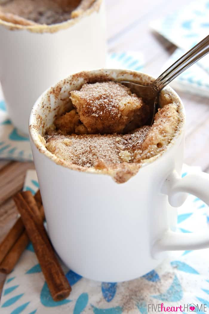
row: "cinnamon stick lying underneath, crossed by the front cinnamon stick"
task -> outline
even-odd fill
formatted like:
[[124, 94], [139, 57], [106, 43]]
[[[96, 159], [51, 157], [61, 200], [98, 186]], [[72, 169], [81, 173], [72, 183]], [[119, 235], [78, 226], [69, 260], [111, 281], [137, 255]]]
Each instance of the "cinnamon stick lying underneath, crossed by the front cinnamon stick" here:
[[[34, 195], [34, 199], [37, 199], [38, 206], [40, 206], [40, 216], [44, 220], [44, 208], [40, 191]], [[0, 273], [11, 273], [21, 254], [29, 244], [29, 241], [30, 239], [20, 217], [0, 245]]]

